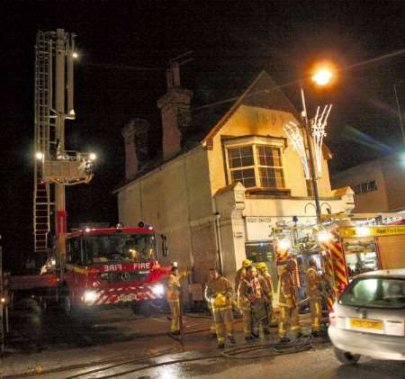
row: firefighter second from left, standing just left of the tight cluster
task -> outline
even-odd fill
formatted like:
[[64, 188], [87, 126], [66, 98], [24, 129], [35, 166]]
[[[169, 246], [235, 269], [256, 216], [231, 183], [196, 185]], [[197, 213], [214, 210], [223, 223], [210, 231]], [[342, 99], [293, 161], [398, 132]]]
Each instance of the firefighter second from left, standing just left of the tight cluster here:
[[211, 304], [219, 348], [225, 347], [225, 332], [229, 342], [236, 343], [233, 338], [233, 315], [230, 300], [232, 292], [229, 280], [221, 276], [216, 268], [210, 268], [210, 280], [205, 288], [205, 296]]

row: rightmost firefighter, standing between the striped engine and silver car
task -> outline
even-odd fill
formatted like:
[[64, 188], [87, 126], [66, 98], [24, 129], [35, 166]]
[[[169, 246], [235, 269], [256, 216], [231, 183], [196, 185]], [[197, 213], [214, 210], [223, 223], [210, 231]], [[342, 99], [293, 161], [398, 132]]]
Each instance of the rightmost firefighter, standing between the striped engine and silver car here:
[[321, 281], [317, 268], [317, 262], [311, 258], [307, 271], [307, 292], [310, 297], [312, 335], [315, 337], [320, 332], [320, 319], [322, 317]]

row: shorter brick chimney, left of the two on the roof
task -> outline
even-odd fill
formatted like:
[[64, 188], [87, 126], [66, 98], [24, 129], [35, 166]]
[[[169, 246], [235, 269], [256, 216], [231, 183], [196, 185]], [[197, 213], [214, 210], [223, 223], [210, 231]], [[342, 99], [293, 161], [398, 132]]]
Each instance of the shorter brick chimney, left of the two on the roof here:
[[122, 128], [125, 143], [125, 178], [138, 174], [139, 166], [148, 159], [149, 122], [133, 119]]

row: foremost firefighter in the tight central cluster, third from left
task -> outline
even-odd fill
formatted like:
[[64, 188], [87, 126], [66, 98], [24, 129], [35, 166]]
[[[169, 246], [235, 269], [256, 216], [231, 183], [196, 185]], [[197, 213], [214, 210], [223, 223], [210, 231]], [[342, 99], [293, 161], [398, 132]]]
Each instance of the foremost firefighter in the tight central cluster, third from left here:
[[267, 302], [270, 293], [266, 280], [257, 275], [256, 267], [247, 266], [246, 275], [238, 288], [238, 307], [242, 312], [245, 339], [252, 341], [259, 337], [259, 324], [262, 323], [263, 333], [269, 334], [267, 318]]

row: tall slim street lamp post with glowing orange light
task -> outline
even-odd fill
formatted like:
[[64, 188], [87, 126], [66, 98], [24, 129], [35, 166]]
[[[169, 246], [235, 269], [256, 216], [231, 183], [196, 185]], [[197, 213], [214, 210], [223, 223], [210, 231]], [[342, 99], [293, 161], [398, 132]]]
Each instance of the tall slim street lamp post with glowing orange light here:
[[[313, 77], [312, 80], [318, 85], [318, 86], [327, 86], [333, 77], [333, 74], [328, 70], [328, 69], [322, 69], [318, 71]], [[317, 176], [316, 176], [316, 171], [315, 171], [315, 159], [313, 157], [313, 144], [312, 144], [312, 133], [311, 133], [311, 125], [310, 121], [308, 119], [308, 113], [307, 113], [307, 105], [305, 102], [305, 95], [303, 91], [303, 87], [301, 85], [301, 100], [302, 100], [302, 116], [305, 121], [305, 127], [304, 127], [304, 136], [307, 144], [307, 149], [308, 149], [308, 155], [309, 155], [309, 168], [310, 168], [310, 180], [312, 182], [312, 191], [313, 191], [313, 196], [315, 199], [315, 207], [316, 207], [316, 213], [317, 213], [317, 223], [321, 223], [321, 210], [320, 210], [320, 194], [318, 192], [318, 183], [317, 183]]]

